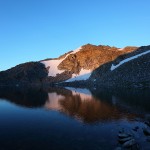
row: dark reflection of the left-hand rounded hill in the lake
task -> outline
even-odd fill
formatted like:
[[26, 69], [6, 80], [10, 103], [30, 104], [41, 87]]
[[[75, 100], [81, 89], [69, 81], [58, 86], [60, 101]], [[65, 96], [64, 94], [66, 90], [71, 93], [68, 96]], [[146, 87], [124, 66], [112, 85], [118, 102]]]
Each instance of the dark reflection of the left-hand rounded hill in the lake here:
[[0, 87], [0, 98], [23, 107], [42, 107], [48, 98], [47, 92], [39, 87], [14, 88]]

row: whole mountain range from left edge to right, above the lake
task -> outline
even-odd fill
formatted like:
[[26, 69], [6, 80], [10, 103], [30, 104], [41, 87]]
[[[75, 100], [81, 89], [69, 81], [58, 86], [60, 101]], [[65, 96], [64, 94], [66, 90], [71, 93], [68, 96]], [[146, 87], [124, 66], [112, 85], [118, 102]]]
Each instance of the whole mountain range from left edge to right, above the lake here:
[[58, 58], [29, 62], [0, 72], [0, 85], [149, 86], [150, 46], [83, 45]]

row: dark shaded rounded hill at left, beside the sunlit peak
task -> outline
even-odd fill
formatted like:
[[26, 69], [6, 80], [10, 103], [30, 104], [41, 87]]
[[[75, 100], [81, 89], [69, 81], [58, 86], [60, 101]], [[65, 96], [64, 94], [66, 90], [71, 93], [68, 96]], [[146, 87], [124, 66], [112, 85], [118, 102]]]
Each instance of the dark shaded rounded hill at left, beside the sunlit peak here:
[[45, 66], [39, 62], [24, 63], [0, 72], [0, 85], [40, 84], [47, 74]]

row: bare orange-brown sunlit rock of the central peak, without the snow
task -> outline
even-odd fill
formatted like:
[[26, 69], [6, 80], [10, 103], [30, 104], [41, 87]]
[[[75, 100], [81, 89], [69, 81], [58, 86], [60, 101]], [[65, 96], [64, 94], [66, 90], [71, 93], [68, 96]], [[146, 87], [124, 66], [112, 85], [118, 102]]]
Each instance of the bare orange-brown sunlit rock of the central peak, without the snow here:
[[81, 68], [94, 70], [106, 62], [114, 60], [117, 56], [132, 52], [135, 49], [136, 47], [126, 47], [120, 51], [119, 48], [104, 45], [83, 45], [80, 51], [68, 55], [59, 64], [58, 69], [74, 73], [78, 73]]

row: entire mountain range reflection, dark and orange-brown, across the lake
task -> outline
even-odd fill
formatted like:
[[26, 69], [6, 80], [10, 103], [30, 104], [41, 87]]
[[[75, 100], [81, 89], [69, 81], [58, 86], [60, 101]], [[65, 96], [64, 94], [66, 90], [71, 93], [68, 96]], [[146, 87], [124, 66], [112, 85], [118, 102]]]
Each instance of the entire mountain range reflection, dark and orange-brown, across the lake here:
[[[127, 91], [126, 91], [127, 92]], [[1, 88], [0, 98], [23, 107], [44, 107], [84, 123], [133, 120], [150, 112], [149, 94], [75, 88]], [[143, 97], [142, 97], [143, 96]], [[143, 100], [144, 99], [144, 100]]]

